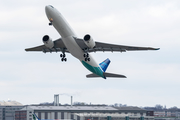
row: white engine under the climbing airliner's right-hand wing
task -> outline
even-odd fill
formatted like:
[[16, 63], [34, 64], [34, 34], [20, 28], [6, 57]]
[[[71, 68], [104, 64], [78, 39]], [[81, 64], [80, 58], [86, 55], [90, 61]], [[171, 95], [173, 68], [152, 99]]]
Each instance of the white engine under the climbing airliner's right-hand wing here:
[[84, 43], [89, 47], [89, 48], [94, 48], [96, 46], [95, 41], [92, 39], [92, 37], [87, 34], [84, 36]]

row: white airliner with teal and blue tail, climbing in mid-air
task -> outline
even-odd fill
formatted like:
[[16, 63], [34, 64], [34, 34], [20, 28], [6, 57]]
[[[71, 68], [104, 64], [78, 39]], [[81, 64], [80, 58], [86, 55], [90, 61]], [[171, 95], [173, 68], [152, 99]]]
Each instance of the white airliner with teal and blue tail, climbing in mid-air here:
[[78, 38], [74, 31], [71, 29], [62, 14], [54, 8], [52, 5], [45, 6], [46, 16], [49, 20], [49, 26], [54, 26], [61, 38], [53, 41], [49, 35], [45, 35], [42, 38], [44, 45], [40, 45], [33, 48], [27, 48], [25, 51], [42, 51], [46, 52], [62, 52], [60, 54], [61, 61], [67, 61], [66, 54], [70, 53], [75, 58], [79, 59], [80, 62], [92, 73], [86, 75], [87, 78], [107, 77], [113, 78], [126, 78], [124, 75], [108, 73], [106, 69], [111, 62], [108, 58], [102, 63], [97, 64], [94, 60], [91, 52], [98, 51], [110, 51], [110, 52], [126, 52], [126, 51], [138, 51], [138, 50], [159, 50], [160, 48], [152, 47], [135, 47], [116, 45], [103, 42], [96, 42], [92, 36], [86, 34], [84, 38]]

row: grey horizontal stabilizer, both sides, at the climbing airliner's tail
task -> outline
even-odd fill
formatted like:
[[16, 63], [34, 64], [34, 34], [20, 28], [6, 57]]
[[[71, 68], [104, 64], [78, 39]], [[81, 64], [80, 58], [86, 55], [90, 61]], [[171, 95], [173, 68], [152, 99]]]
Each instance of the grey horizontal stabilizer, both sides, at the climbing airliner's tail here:
[[[114, 77], [114, 78], [126, 78], [124, 75], [114, 74], [114, 73], [103, 73], [105, 77]], [[87, 78], [100, 77], [94, 73], [86, 75]]]

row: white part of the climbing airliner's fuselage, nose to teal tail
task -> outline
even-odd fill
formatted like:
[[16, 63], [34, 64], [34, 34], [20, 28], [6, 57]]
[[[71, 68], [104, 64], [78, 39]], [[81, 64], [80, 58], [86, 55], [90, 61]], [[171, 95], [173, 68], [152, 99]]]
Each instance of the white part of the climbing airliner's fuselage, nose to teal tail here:
[[[84, 61], [84, 51], [79, 47], [79, 45], [76, 43], [75, 38], [77, 37], [73, 30], [70, 28], [69, 24], [66, 22], [64, 17], [61, 15], [61, 13], [56, 10], [52, 6], [46, 6], [45, 7], [46, 15], [50, 22], [52, 22], [52, 25], [54, 28], [58, 31], [58, 33], [61, 35], [62, 41], [68, 51], [77, 59], [79, 59], [81, 62], [85, 62], [88, 65], [92, 67], [99, 67], [99, 65], [95, 62], [93, 57], [89, 54], [90, 61]], [[84, 64], [83, 64], [84, 65]], [[89, 69], [87, 66], [85, 66], [87, 69]], [[89, 69], [90, 70], [90, 69]], [[94, 71], [97, 70], [90, 70], [91, 72], [95, 73]], [[99, 72], [99, 71], [97, 71]]]

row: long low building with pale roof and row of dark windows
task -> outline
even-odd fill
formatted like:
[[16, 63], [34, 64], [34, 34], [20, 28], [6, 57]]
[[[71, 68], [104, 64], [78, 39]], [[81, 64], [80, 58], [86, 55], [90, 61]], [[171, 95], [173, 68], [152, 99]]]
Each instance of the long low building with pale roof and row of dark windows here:
[[26, 106], [16, 111], [15, 120], [33, 120], [33, 113], [39, 119], [69, 120], [154, 120], [146, 110], [138, 107], [110, 106]]

